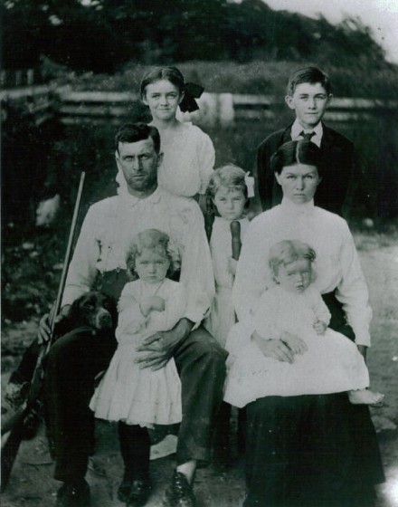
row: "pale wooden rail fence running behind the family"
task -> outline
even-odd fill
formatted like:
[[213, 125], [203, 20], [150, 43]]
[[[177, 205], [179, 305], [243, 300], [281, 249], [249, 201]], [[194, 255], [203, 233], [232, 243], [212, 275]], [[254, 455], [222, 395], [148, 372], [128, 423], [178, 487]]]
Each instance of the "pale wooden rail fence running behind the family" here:
[[[0, 91], [0, 99], [24, 102], [31, 112], [43, 121], [54, 110], [64, 124], [111, 123], [128, 120], [139, 95], [116, 91], [71, 91], [70, 86], [53, 89], [51, 86], [25, 87]], [[199, 100], [200, 110], [180, 115], [181, 120], [204, 126], [232, 127], [237, 121], [273, 119], [283, 107], [275, 97], [231, 93], [204, 93]], [[386, 111], [397, 111], [398, 100], [366, 100], [336, 98], [327, 109], [326, 120], [367, 120]]]

